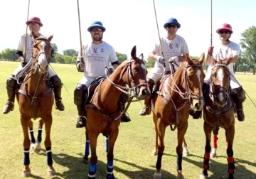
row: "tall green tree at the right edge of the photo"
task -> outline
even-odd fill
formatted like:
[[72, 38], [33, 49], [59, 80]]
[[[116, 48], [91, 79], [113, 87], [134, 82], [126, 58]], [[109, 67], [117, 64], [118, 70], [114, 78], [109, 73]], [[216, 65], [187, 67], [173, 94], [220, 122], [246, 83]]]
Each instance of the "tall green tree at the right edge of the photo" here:
[[256, 70], [256, 27], [252, 26], [241, 34], [240, 45], [245, 50], [244, 57], [247, 59], [247, 65], [253, 70], [255, 75]]

